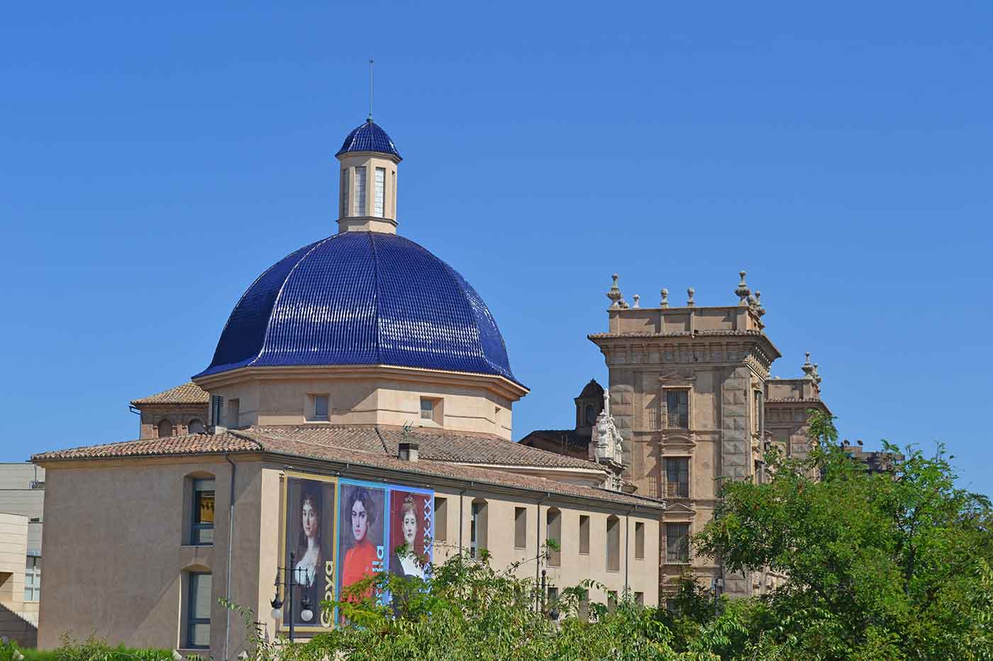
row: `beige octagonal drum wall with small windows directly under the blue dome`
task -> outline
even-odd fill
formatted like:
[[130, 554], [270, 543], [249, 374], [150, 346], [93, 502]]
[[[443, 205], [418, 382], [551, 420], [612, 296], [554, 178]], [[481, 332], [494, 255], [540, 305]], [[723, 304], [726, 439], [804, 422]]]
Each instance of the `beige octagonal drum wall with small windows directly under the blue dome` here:
[[[246, 377], [210, 386], [212, 395], [224, 398], [226, 427], [248, 425], [300, 425], [315, 423], [314, 396], [328, 395], [333, 425], [393, 425], [443, 428], [459, 432], [511, 435], [511, 407], [516, 398], [501, 396], [486, 379], [452, 383], [451, 377], [405, 380], [374, 376], [317, 372], [280, 378]], [[207, 386], [206, 386], [207, 387]], [[422, 420], [421, 398], [440, 402], [437, 421]], [[232, 399], [238, 400], [238, 419], [227, 417]]]

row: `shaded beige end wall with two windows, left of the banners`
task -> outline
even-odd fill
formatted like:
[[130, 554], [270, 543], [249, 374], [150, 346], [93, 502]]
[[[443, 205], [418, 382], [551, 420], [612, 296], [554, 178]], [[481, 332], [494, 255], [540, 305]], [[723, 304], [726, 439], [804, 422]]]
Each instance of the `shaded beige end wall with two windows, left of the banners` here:
[[[255, 567], [259, 555], [260, 463], [238, 462], [232, 565]], [[112, 644], [182, 647], [184, 580], [190, 571], [213, 574], [213, 593], [225, 594], [226, 530], [231, 467], [215, 461], [99, 462], [48, 471], [46, 556], [42, 573], [39, 646], [52, 648], [65, 632], [90, 633]], [[184, 544], [189, 475], [213, 474], [213, 546]], [[232, 573], [231, 597], [251, 603], [255, 571]], [[226, 611], [214, 603], [211, 649], [223, 649]], [[231, 649], [245, 638], [232, 618]]]

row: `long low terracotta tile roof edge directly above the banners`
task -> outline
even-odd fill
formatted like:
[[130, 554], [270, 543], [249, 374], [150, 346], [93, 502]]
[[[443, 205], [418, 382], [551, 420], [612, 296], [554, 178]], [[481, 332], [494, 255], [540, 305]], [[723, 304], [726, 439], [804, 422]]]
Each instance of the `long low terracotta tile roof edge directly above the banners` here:
[[[294, 434], [296, 429], [301, 433]], [[345, 433], [341, 433], [342, 431]], [[490, 484], [509, 488], [526, 489], [541, 493], [556, 493], [567, 496], [593, 498], [612, 503], [638, 505], [649, 509], [662, 509], [662, 503], [654, 498], [627, 494], [621, 491], [582, 486], [560, 482], [545, 477], [521, 474], [510, 470], [486, 468], [464, 463], [448, 463], [421, 459], [417, 462], [407, 462], [387, 455], [383, 443], [375, 449], [365, 432], [376, 434], [374, 428], [335, 428], [333, 434], [306, 432], [308, 428], [289, 427], [251, 427], [246, 430], [223, 432], [221, 434], [190, 434], [163, 439], [145, 439], [126, 443], [112, 443], [104, 446], [75, 448], [51, 453], [43, 453], [32, 457], [33, 462], [52, 462], [58, 460], [88, 460], [110, 458], [137, 458], [171, 455], [214, 455], [226, 453], [269, 453], [290, 457], [308, 458], [336, 463], [351, 463], [355, 466], [381, 468], [386, 470], [402, 470], [408, 473], [420, 473], [425, 476], [434, 475], [479, 484]], [[386, 439], [393, 439], [384, 435]], [[367, 450], [341, 447], [331, 441], [343, 442], [355, 446], [366, 446]], [[386, 440], [386, 446], [393, 441]], [[516, 445], [510, 441], [504, 444]], [[430, 445], [430, 444], [428, 444]], [[421, 446], [425, 448], [426, 446]], [[551, 455], [533, 448], [526, 449], [533, 453]], [[423, 457], [423, 450], [421, 450]], [[562, 458], [568, 460], [569, 458]], [[595, 464], [593, 464], [595, 465]]]

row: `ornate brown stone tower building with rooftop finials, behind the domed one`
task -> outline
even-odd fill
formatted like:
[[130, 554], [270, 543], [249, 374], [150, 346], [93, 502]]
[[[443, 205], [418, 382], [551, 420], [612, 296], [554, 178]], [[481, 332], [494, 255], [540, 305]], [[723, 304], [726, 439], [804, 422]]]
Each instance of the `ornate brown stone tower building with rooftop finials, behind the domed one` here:
[[[801, 378], [771, 377], [780, 351], [766, 333], [761, 294], [753, 297], [745, 273], [740, 276], [737, 305], [699, 306], [691, 288], [684, 305], [670, 303], [663, 289], [658, 305], [647, 308], [640, 297], [634, 306], [626, 302], [615, 275], [607, 292], [608, 329], [589, 335], [607, 363], [608, 410], [623, 438], [624, 480], [638, 494], [665, 501], [660, 598], [684, 577], [735, 596], [776, 587], [781, 577], [731, 574], [719, 558], [694, 556], [689, 539], [713, 517], [723, 480], [766, 479], [771, 444], [787, 456], [805, 456], [809, 410], [829, 413], [809, 354]], [[581, 441], [562, 442], [582, 438], [576, 402], [576, 430], [532, 432], [521, 443], [589, 457]]]

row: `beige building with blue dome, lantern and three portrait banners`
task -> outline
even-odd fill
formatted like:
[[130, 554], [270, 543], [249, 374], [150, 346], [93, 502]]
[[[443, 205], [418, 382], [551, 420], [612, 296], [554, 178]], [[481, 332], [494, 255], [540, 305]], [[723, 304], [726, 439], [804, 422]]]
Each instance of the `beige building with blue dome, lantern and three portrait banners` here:
[[543, 572], [548, 602], [587, 579], [591, 600], [657, 602], [663, 504], [626, 484], [611, 401], [586, 455], [513, 443], [528, 390], [473, 287], [397, 234], [392, 140], [370, 117], [336, 156], [339, 232], [262, 272], [191, 383], [132, 402], [137, 440], [33, 457], [40, 647], [95, 633], [232, 659], [247, 631], [219, 597], [270, 637], [313, 635], [363, 576], [484, 548]]

